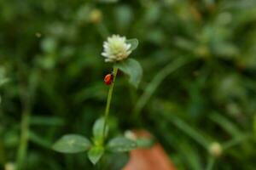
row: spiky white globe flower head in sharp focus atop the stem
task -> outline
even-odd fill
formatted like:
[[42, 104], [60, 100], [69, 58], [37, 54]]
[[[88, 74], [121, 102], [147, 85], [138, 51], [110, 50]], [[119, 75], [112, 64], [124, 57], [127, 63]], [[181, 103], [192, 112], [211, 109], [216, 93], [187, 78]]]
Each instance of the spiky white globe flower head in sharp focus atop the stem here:
[[115, 62], [126, 59], [131, 54], [131, 44], [126, 43], [126, 37], [113, 35], [103, 43], [102, 56], [106, 62]]

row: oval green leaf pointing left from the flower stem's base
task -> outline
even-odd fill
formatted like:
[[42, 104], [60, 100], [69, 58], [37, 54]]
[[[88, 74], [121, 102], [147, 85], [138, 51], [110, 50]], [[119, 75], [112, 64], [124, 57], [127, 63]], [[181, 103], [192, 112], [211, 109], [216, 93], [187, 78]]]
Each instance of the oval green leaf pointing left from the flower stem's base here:
[[90, 148], [90, 140], [77, 134], [66, 134], [53, 145], [61, 153], [78, 153]]

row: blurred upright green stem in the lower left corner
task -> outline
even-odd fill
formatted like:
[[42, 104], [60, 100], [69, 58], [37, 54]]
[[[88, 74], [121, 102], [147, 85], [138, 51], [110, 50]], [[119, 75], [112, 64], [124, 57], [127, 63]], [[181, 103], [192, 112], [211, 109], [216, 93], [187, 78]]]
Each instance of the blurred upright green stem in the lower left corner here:
[[26, 158], [26, 150], [28, 143], [28, 130], [29, 130], [29, 117], [30, 111], [24, 111], [21, 117], [21, 134], [20, 134], [20, 145], [17, 155], [17, 168], [16, 170], [24, 169], [24, 160]]

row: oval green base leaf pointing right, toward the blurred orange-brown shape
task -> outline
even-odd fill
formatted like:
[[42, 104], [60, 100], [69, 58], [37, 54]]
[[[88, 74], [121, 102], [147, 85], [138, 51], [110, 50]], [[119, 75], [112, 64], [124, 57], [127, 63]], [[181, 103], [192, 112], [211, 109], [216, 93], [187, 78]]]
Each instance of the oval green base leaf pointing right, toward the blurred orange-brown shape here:
[[131, 139], [126, 139], [124, 137], [117, 137], [111, 139], [108, 142], [108, 150], [113, 152], [125, 152], [129, 150], [134, 150], [137, 148], [137, 143]]

